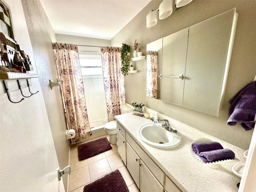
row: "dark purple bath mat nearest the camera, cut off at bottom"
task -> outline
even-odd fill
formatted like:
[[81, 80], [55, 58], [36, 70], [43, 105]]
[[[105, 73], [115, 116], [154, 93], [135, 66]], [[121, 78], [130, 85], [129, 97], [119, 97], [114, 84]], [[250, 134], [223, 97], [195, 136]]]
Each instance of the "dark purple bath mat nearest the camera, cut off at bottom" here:
[[115, 170], [84, 186], [84, 192], [129, 192], [129, 190], [119, 170]]

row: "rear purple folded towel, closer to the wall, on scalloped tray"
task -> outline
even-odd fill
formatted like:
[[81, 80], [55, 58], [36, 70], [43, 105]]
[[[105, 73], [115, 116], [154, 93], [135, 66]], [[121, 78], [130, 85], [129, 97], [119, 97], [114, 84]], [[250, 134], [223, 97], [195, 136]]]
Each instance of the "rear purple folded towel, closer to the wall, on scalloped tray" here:
[[199, 154], [204, 151], [212, 151], [217, 149], [223, 149], [222, 145], [218, 142], [203, 142], [203, 143], [192, 143], [192, 149], [195, 154]]

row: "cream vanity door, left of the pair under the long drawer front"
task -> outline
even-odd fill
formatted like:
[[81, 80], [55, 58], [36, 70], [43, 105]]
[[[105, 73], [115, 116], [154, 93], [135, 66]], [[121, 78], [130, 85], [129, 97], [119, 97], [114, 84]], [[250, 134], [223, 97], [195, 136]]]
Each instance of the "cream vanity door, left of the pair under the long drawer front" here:
[[127, 169], [130, 172], [138, 188], [140, 188], [140, 157], [136, 154], [136, 152], [128, 143], [126, 143], [126, 151]]

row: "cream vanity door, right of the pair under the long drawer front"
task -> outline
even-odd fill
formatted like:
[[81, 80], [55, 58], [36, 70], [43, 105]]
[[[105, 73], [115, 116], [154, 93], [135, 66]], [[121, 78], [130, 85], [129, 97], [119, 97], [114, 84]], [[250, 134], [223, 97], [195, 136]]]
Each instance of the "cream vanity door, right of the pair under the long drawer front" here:
[[164, 192], [164, 187], [140, 160], [140, 191], [141, 192]]

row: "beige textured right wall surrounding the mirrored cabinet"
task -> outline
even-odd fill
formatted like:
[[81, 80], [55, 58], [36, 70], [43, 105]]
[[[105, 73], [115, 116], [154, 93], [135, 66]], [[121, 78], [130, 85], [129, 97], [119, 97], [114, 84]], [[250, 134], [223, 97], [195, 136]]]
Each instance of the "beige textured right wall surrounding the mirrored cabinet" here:
[[[160, 0], [151, 1], [112, 38], [112, 46], [122, 46], [122, 42], [132, 46], [137, 39], [145, 55], [146, 44], [236, 7], [238, 22], [222, 110], [219, 116], [215, 117], [146, 97], [146, 60], [136, 62], [135, 68], [138, 73], [129, 74], [124, 78], [126, 102], [145, 102], [146, 106], [162, 114], [244, 150], [248, 149], [252, 130], [244, 131], [240, 125], [226, 126], [226, 121], [230, 106], [228, 100], [247, 83], [252, 82], [256, 75], [256, 1], [194, 0], [174, 10], [168, 18], [158, 20], [155, 26], [146, 28], [146, 15], [149, 10], [156, 10], [161, 2]], [[132, 52], [132, 49], [130, 51]]]

